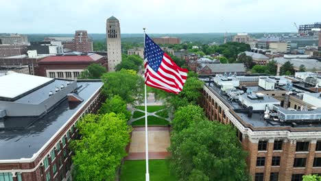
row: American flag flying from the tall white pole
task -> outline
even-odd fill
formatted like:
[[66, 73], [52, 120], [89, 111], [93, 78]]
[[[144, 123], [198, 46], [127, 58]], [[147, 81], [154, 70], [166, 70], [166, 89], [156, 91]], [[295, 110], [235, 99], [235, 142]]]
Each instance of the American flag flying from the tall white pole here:
[[173, 60], [145, 34], [145, 84], [178, 94], [187, 79], [187, 69], [178, 67]]

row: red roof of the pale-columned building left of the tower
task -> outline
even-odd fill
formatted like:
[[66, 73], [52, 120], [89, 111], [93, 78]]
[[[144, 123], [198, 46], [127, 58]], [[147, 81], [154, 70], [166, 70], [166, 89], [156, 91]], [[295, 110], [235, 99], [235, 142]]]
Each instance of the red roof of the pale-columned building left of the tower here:
[[97, 53], [80, 53], [73, 51], [59, 56], [46, 57], [40, 60], [38, 64], [46, 62], [95, 62], [102, 58], [104, 58], [104, 56], [100, 56]]

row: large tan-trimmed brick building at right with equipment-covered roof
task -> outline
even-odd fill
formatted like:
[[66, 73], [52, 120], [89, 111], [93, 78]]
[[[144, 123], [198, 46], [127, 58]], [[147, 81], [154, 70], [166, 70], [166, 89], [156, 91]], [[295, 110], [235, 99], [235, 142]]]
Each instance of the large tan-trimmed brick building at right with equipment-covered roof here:
[[320, 93], [289, 77], [221, 75], [210, 82], [203, 89], [206, 116], [236, 128], [254, 181], [320, 175]]

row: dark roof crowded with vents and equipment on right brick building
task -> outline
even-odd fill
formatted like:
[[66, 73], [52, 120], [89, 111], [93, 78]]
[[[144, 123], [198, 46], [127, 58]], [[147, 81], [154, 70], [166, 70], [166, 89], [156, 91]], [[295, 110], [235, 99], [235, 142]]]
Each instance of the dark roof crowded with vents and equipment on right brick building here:
[[[250, 76], [251, 77], [251, 76]], [[236, 76], [235, 80], [245, 80], [244, 76]], [[206, 79], [202, 79], [206, 80]], [[230, 79], [233, 81], [233, 79]], [[243, 84], [246, 82], [243, 82]], [[272, 95], [276, 91], [283, 90], [284, 94], [291, 93], [294, 96], [297, 91], [300, 93], [307, 93], [309, 95], [315, 95], [320, 97], [320, 93], [309, 93], [304, 89], [298, 87], [292, 88], [292, 84], [276, 86], [273, 90], [265, 90], [261, 86], [242, 86], [236, 87], [231, 90], [224, 90], [223, 86], [219, 86], [214, 82], [206, 81], [206, 86], [214, 93], [228, 108], [233, 110], [235, 117], [241, 121], [243, 125], [250, 126], [255, 129], [265, 129], [273, 128], [273, 130], [291, 130], [296, 127], [298, 129], [302, 128], [320, 128], [321, 124], [316, 123], [316, 121], [306, 120], [307, 117], [315, 119], [316, 117], [321, 118], [321, 109], [316, 110], [287, 110], [281, 108], [280, 101], [275, 99]], [[250, 91], [249, 91], [250, 90]], [[289, 90], [292, 90], [289, 92]], [[267, 95], [267, 91], [270, 92]], [[321, 101], [321, 100], [319, 100]], [[249, 107], [253, 107], [249, 109]], [[265, 117], [265, 108], [269, 107], [270, 113], [273, 116], [278, 115], [277, 121], [271, 119], [264, 119]], [[258, 108], [261, 107], [261, 108]], [[250, 114], [250, 116], [249, 116]], [[304, 116], [302, 116], [304, 115]], [[294, 121], [291, 123], [291, 120]], [[305, 121], [306, 120], [306, 121]], [[320, 119], [318, 119], [320, 120]]]

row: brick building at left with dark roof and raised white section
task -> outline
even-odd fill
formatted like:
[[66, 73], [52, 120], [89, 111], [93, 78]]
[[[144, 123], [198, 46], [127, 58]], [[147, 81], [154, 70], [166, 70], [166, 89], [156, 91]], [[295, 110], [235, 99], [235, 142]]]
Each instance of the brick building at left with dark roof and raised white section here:
[[75, 124], [104, 100], [102, 82], [0, 77], [0, 180], [71, 180]]

